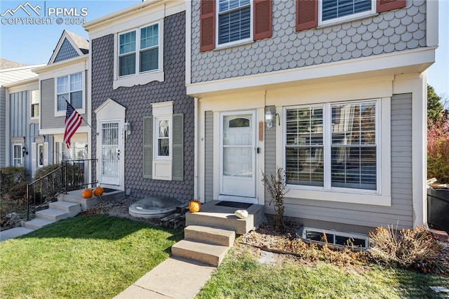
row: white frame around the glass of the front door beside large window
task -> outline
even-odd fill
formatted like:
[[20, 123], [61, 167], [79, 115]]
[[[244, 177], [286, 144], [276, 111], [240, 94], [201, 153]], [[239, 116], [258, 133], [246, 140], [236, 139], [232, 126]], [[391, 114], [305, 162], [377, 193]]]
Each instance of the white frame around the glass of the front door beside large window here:
[[[251, 149], [251, 153], [252, 153], [252, 157], [251, 157], [251, 162], [252, 162], [252, 178], [248, 181], [250, 181], [250, 184], [253, 186], [253, 190], [250, 191], [250, 193], [244, 194], [238, 194], [238, 192], [236, 192], [237, 194], [226, 194], [227, 192], [224, 192], [224, 187], [223, 187], [223, 182], [224, 182], [224, 178], [223, 178], [223, 129], [224, 129], [224, 117], [227, 116], [239, 116], [239, 115], [246, 115], [246, 114], [250, 114], [251, 115], [251, 121], [250, 121], [250, 128], [251, 131], [253, 133], [252, 136], [252, 149]], [[256, 165], [256, 150], [257, 150], [257, 110], [256, 109], [250, 109], [250, 110], [239, 110], [239, 111], [232, 111], [232, 112], [221, 112], [220, 113], [220, 131], [219, 131], [219, 160], [220, 160], [220, 166], [219, 166], [219, 195], [217, 197], [218, 200], [227, 200], [227, 201], [239, 201], [239, 202], [247, 202], [247, 203], [251, 203], [251, 204], [257, 204], [257, 165]]]

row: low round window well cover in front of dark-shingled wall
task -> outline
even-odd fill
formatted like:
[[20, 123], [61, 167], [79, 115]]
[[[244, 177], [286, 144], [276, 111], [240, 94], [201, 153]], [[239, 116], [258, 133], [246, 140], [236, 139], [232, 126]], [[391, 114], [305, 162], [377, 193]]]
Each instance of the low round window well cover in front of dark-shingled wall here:
[[176, 210], [176, 207], [182, 204], [171, 197], [149, 196], [140, 201], [136, 201], [129, 207], [129, 213], [137, 218], [163, 218]]

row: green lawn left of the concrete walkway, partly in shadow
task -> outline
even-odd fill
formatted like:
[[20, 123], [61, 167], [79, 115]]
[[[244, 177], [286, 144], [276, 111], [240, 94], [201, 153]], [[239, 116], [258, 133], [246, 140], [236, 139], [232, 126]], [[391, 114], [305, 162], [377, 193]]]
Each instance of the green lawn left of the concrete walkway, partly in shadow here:
[[106, 215], [56, 222], [0, 242], [0, 298], [112, 298], [182, 237]]

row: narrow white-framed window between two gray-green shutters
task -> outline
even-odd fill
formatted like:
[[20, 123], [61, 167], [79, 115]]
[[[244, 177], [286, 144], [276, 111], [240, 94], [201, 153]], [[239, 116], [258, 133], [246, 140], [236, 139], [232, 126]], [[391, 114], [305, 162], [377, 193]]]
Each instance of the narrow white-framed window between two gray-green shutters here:
[[154, 159], [171, 159], [173, 117], [154, 117]]

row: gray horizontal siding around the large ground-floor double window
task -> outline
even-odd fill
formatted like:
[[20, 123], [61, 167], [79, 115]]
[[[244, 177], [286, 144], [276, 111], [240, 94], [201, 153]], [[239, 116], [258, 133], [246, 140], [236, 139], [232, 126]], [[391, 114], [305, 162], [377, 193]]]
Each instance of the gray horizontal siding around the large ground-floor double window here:
[[[398, 225], [399, 228], [413, 227], [412, 199], [412, 98], [411, 94], [393, 95], [391, 98], [391, 206], [370, 206], [333, 201], [314, 201], [289, 198], [284, 200], [285, 215], [305, 220], [320, 220], [347, 225], [378, 227]], [[274, 130], [273, 130], [274, 131]], [[276, 147], [276, 138], [265, 133], [265, 171], [274, 171], [270, 151]], [[265, 194], [266, 211], [274, 213], [268, 206], [269, 194]], [[329, 194], [332, 196], [332, 193]], [[361, 195], [363, 196], [363, 195]]]

